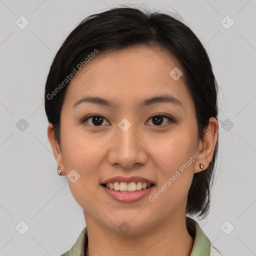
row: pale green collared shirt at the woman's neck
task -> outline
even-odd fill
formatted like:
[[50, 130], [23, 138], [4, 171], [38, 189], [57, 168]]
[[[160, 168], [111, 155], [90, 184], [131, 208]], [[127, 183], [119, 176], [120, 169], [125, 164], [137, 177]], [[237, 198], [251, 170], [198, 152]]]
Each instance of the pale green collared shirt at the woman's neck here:
[[[208, 237], [203, 233], [195, 220], [186, 216], [186, 226], [189, 233], [191, 233], [194, 238], [190, 256], [222, 256], [222, 254], [210, 244]], [[88, 236], [87, 227], [85, 226], [71, 249], [61, 256], [87, 256], [84, 255], [87, 246]]]

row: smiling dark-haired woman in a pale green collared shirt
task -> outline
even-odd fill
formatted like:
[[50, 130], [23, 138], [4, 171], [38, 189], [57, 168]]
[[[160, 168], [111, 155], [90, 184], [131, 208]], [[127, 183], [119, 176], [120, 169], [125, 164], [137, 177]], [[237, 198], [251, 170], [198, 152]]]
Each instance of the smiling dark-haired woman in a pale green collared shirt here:
[[221, 255], [205, 217], [218, 148], [207, 53], [176, 18], [117, 7], [82, 20], [51, 64], [45, 111], [86, 227], [66, 255]]

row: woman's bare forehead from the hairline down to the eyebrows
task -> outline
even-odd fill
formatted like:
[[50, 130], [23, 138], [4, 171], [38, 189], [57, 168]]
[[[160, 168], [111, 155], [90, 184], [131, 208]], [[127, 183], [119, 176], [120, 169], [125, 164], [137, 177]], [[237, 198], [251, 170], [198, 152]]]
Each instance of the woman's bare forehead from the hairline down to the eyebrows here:
[[168, 51], [158, 47], [99, 52], [71, 79], [66, 97], [70, 102], [84, 95], [104, 97], [116, 106], [166, 93], [189, 100], [183, 77], [174, 80], [169, 74], [175, 67], [182, 70]]

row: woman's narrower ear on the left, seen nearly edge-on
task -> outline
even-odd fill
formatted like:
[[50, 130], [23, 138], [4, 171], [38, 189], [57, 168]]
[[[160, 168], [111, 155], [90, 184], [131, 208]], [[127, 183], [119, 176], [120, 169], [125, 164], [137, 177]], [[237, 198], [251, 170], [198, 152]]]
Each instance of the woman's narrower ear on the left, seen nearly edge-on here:
[[62, 158], [62, 152], [61, 152], [61, 146], [57, 143], [55, 137], [54, 137], [54, 131], [53, 131], [53, 126], [52, 123], [49, 123], [48, 128], [47, 128], [47, 135], [49, 142], [52, 147], [52, 151], [54, 154], [55, 161], [57, 163], [57, 166], [60, 166], [62, 169], [61, 175], [65, 175], [65, 170], [64, 170], [64, 164], [63, 164], [63, 158]]

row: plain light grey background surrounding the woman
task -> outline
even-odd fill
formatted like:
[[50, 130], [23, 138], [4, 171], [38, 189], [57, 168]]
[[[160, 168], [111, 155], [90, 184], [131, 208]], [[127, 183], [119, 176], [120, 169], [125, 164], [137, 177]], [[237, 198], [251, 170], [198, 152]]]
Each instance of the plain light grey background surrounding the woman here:
[[[210, 214], [199, 223], [221, 253], [256, 255], [255, 0], [0, 0], [0, 255], [60, 255], [85, 226], [56, 171], [44, 84], [80, 20], [127, 3], [178, 12], [205, 45], [221, 88], [220, 149]], [[29, 21], [24, 29], [15, 23], [25, 24], [21, 15]], [[228, 29], [226, 15], [234, 21]]]

